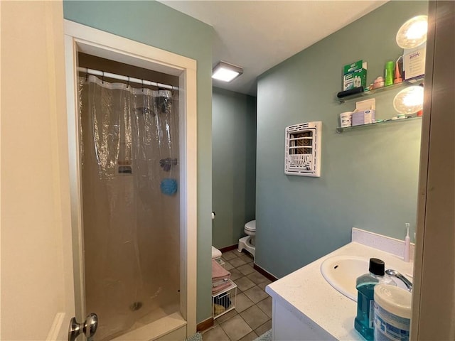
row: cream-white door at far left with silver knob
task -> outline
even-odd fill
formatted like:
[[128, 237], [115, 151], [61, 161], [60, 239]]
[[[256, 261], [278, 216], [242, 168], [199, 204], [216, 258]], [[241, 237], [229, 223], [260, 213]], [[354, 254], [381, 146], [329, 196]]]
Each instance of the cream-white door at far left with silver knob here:
[[0, 340], [66, 340], [75, 299], [63, 4], [0, 6]]

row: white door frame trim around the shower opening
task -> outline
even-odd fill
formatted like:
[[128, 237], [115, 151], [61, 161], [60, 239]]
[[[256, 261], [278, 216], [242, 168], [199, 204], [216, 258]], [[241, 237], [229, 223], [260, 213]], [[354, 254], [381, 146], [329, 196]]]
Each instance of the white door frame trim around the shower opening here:
[[[70, 162], [71, 229], [75, 310], [85, 319], [82, 239], [82, 190], [80, 178], [80, 122], [77, 114], [77, 53], [115, 60], [178, 77], [180, 131], [180, 259], [181, 314], [187, 321], [186, 335], [196, 332], [197, 254], [197, 101], [196, 60], [170, 53], [112, 33], [64, 21], [65, 74]], [[89, 312], [90, 313], [90, 312]], [[96, 313], [96, 312], [94, 312]]]

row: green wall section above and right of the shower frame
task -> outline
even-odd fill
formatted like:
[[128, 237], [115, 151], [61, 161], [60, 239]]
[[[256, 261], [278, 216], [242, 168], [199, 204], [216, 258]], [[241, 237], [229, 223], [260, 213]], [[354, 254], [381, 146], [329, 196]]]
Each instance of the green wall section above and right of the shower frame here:
[[64, 1], [66, 19], [197, 60], [198, 308], [211, 316], [213, 28], [156, 1]]

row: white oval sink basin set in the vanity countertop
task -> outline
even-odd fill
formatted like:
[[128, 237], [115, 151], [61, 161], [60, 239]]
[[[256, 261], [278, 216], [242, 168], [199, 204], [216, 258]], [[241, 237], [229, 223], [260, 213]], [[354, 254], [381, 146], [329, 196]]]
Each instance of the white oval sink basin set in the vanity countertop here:
[[355, 279], [368, 274], [369, 259], [356, 256], [333, 256], [321, 264], [326, 281], [344, 296], [357, 302]]

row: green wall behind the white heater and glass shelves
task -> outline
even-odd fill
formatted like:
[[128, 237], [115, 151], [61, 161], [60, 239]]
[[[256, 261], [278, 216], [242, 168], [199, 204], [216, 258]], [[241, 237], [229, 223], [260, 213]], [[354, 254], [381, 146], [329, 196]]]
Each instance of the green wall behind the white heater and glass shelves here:
[[[390, 1], [259, 77], [257, 93], [257, 250], [259, 266], [282, 277], [350, 242], [359, 227], [414, 235], [421, 120], [336, 133], [343, 65], [368, 61], [368, 84], [383, 75], [407, 19], [427, 1]], [[377, 95], [377, 118], [395, 116], [396, 92]], [[322, 121], [321, 178], [284, 175], [284, 129]]]

